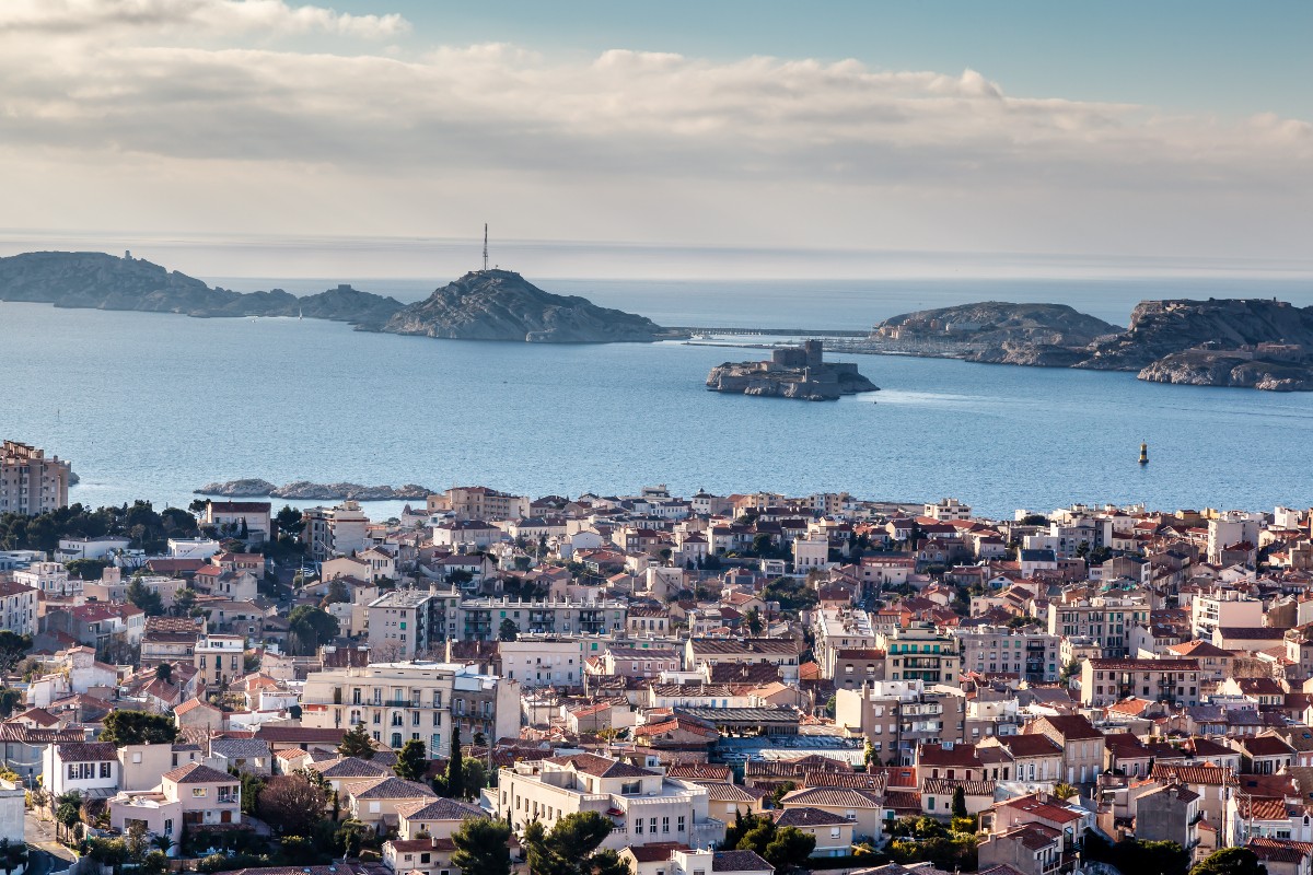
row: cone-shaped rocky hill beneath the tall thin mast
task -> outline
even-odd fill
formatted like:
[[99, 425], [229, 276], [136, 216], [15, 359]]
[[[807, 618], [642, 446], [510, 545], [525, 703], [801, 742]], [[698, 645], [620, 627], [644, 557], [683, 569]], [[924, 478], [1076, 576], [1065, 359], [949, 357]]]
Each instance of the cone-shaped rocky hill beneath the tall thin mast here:
[[587, 298], [542, 291], [511, 270], [478, 270], [411, 304], [383, 327], [397, 335], [545, 344], [651, 341], [650, 319], [599, 307]]

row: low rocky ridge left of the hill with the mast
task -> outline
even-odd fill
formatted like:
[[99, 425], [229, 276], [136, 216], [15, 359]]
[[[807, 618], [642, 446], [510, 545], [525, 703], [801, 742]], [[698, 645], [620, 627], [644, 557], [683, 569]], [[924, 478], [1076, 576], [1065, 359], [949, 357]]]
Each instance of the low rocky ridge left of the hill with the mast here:
[[0, 300], [209, 317], [303, 314], [364, 328], [381, 327], [402, 308], [399, 300], [351, 286], [306, 298], [281, 289], [246, 294], [211, 289], [158, 264], [104, 252], [28, 252], [0, 258]]

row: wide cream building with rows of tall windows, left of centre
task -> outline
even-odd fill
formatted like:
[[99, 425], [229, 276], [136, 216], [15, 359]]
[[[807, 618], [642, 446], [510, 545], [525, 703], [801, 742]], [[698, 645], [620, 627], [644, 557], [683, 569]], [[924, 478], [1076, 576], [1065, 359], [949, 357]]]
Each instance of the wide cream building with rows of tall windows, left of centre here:
[[370, 662], [306, 677], [301, 723], [340, 728], [364, 723], [394, 749], [419, 739], [431, 757], [445, 757], [453, 725], [469, 743], [519, 737], [520, 683], [454, 662]]

